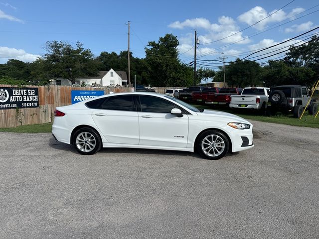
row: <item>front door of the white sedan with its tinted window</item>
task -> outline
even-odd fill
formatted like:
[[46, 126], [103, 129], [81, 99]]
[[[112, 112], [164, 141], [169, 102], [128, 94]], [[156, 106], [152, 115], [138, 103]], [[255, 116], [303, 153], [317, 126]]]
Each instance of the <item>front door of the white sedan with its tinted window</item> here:
[[171, 115], [174, 103], [157, 96], [139, 96], [140, 145], [186, 147], [188, 116]]

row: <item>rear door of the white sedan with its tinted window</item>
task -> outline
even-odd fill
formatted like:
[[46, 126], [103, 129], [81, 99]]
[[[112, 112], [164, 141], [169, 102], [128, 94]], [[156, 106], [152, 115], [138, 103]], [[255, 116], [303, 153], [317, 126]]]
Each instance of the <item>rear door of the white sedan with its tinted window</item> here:
[[92, 118], [109, 143], [139, 144], [139, 118], [133, 95], [107, 97]]

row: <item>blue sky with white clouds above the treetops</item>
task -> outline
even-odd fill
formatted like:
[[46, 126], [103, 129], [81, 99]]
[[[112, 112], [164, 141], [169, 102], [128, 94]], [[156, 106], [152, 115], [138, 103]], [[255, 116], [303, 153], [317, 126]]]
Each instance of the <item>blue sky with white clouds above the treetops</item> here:
[[[0, 0], [0, 64], [8, 59], [32, 62], [47, 53], [44, 45], [53, 40], [74, 46], [79, 41], [95, 56], [120, 53], [128, 48], [130, 21], [134, 57], [144, 58], [148, 42], [169, 33], [177, 36], [181, 62], [189, 64], [196, 30], [197, 68], [216, 70], [223, 57], [226, 64], [242, 59], [318, 27], [318, 19], [318, 0]], [[246, 59], [276, 54], [316, 34], [319, 29]]]

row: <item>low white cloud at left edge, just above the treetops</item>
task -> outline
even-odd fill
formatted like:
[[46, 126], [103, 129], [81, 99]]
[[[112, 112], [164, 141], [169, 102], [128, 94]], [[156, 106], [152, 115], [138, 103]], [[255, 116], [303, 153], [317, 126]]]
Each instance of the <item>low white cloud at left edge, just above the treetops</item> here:
[[0, 46], [0, 62], [5, 63], [8, 59], [16, 59], [24, 62], [35, 61], [39, 55], [34, 55], [25, 52], [22, 49], [8, 48], [6, 46]]

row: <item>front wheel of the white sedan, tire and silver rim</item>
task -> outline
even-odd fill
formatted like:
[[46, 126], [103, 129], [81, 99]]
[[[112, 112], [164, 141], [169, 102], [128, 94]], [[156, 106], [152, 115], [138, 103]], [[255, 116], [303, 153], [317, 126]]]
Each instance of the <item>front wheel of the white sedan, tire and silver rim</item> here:
[[199, 136], [196, 147], [203, 158], [216, 160], [226, 155], [229, 149], [229, 141], [222, 132], [208, 130]]

